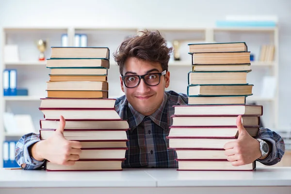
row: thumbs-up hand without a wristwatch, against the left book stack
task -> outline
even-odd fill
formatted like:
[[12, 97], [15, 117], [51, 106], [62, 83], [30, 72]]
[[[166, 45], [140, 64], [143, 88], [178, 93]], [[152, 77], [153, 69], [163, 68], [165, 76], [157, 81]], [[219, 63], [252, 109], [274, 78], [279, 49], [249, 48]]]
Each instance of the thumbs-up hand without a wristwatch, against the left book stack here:
[[54, 134], [47, 140], [39, 141], [32, 146], [32, 157], [37, 161], [46, 159], [56, 164], [74, 165], [80, 158], [81, 143], [65, 139], [64, 128], [65, 118], [61, 116], [59, 128]]

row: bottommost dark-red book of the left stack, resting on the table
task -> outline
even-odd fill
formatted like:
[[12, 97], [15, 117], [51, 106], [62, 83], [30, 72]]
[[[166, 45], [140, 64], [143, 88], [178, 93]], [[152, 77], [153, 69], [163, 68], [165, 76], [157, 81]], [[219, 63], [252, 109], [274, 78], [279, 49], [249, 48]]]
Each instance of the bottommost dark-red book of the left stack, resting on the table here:
[[124, 160], [100, 159], [100, 160], [79, 160], [74, 165], [60, 165], [52, 162], [46, 162], [47, 171], [110, 171], [122, 170], [121, 163]]

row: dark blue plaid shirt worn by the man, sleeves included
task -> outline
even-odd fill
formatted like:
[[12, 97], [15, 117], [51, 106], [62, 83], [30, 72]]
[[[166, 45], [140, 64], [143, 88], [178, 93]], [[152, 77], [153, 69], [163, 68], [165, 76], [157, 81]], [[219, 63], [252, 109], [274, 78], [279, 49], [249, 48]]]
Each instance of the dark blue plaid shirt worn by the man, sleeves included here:
[[[126, 151], [126, 160], [123, 168], [177, 168], [176, 152], [168, 149], [169, 127], [173, 123], [171, 115], [174, 114], [174, 105], [186, 105], [188, 97], [173, 91], [164, 92], [164, 98], [159, 109], [145, 116], [138, 113], [129, 104], [125, 96], [119, 97], [115, 102], [115, 110], [122, 119], [129, 122], [127, 131], [129, 142]], [[267, 128], [260, 128], [256, 138], [269, 141], [273, 145], [270, 155], [264, 160], [258, 160], [265, 165], [274, 165], [284, 154], [285, 145], [282, 137]], [[25, 163], [24, 169], [39, 169], [45, 161], [36, 161], [30, 156], [29, 148], [40, 141], [39, 134], [29, 133], [23, 135], [16, 144], [16, 162]]]

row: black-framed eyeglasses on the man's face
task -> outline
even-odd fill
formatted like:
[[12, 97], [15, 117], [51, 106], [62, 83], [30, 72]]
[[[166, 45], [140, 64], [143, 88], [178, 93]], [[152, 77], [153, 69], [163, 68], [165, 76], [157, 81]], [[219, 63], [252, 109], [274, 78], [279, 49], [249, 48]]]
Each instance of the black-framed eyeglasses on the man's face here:
[[135, 88], [137, 87], [141, 79], [144, 79], [146, 85], [155, 86], [159, 85], [161, 81], [161, 76], [165, 75], [167, 70], [162, 71], [162, 73], [148, 73], [142, 76], [139, 75], [129, 75], [122, 76], [121, 79], [124, 82], [125, 87], [127, 88]]

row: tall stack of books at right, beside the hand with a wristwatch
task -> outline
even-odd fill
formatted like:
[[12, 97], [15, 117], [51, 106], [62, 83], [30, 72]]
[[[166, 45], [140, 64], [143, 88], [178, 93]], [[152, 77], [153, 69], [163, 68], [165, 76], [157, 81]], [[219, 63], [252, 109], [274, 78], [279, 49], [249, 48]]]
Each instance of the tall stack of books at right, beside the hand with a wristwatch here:
[[250, 52], [245, 43], [189, 44], [188, 105], [175, 106], [169, 147], [178, 170], [254, 170], [256, 163], [232, 166], [224, 145], [238, 138], [236, 119], [255, 137], [262, 106], [246, 105], [253, 85], [246, 81]]

